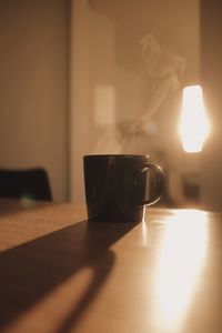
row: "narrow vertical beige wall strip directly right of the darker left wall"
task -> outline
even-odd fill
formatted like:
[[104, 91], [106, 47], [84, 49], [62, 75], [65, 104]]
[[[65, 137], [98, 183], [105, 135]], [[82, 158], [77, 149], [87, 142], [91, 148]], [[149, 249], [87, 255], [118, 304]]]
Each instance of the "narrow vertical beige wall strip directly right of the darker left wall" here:
[[70, 198], [84, 198], [82, 157], [90, 145], [90, 8], [71, 1], [70, 24]]

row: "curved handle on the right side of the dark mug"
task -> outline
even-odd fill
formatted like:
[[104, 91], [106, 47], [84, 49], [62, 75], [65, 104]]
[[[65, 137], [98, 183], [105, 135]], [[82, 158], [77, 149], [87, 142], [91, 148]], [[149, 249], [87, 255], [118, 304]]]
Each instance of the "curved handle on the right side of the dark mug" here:
[[141, 205], [143, 205], [143, 204], [144, 205], [151, 205], [151, 204], [158, 202], [161, 198], [162, 192], [163, 192], [164, 175], [163, 175], [162, 169], [158, 164], [148, 163], [140, 170], [140, 172], [147, 172], [149, 169], [153, 170], [153, 172], [155, 173], [157, 188], [155, 188], [155, 191], [154, 191], [153, 195], [150, 199], [141, 201], [141, 203], [140, 203]]

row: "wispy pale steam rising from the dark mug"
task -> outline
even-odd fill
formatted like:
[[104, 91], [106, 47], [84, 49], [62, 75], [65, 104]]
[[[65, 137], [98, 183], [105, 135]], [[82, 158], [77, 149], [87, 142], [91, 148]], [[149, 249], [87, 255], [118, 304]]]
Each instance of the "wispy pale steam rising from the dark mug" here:
[[[179, 87], [185, 60], [168, 48], [160, 46], [149, 33], [141, 41], [141, 77], [147, 87], [147, 101], [141, 115], [118, 123], [105, 130], [91, 153], [135, 153], [135, 141], [149, 134], [152, 118], [171, 90]], [[143, 89], [144, 90], [144, 89]], [[140, 99], [140, 97], [138, 98]], [[134, 148], [133, 148], [134, 147]]]

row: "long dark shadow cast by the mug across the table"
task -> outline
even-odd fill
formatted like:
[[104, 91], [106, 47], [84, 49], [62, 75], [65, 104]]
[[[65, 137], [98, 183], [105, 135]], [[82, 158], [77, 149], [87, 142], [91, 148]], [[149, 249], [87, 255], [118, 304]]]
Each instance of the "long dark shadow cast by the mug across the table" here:
[[82, 268], [90, 268], [93, 278], [58, 332], [73, 329], [114, 265], [110, 246], [134, 226], [81, 221], [1, 252], [0, 329]]

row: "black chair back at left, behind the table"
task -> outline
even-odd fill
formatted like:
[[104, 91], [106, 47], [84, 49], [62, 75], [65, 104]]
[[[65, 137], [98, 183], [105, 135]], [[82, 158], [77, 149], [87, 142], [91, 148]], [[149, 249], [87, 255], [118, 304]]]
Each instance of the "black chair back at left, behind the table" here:
[[42, 168], [0, 169], [0, 198], [51, 201], [47, 171]]

